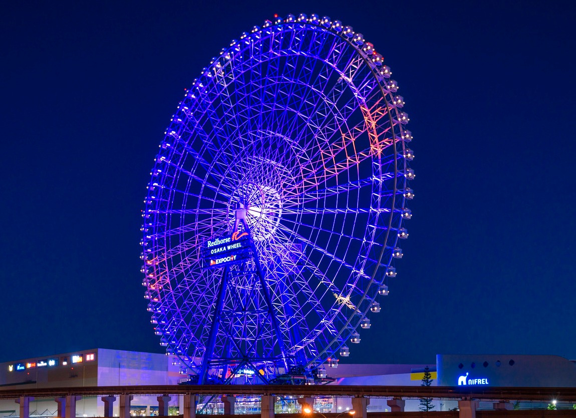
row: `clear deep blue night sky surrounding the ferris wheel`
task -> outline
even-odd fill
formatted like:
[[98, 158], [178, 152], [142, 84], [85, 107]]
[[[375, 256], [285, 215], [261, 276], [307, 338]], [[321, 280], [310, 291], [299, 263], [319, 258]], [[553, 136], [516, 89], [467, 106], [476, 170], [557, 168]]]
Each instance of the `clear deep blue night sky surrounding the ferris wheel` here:
[[164, 352], [139, 271], [153, 159], [202, 67], [274, 13], [362, 32], [411, 119], [410, 238], [346, 361], [576, 359], [576, 3], [12, 1], [0, 6], [0, 362]]

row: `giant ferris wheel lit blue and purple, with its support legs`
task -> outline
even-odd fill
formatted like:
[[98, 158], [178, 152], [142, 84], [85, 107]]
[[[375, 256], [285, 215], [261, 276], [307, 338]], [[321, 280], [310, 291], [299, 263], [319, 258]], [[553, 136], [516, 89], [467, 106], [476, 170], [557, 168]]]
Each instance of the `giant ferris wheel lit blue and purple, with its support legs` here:
[[370, 328], [414, 197], [391, 74], [350, 26], [290, 14], [187, 90], [148, 185], [142, 272], [161, 345], [199, 383], [321, 377]]

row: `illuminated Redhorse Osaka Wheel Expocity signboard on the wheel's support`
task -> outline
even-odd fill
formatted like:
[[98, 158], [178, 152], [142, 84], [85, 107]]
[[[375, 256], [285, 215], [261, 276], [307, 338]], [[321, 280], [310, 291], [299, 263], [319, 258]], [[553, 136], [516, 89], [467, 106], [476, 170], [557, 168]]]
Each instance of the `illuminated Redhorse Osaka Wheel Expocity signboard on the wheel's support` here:
[[250, 235], [237, 231], [232, 235], [207, 240], [202, 245], [204, 268], [217, 268], [238, 263], [252, 255]]

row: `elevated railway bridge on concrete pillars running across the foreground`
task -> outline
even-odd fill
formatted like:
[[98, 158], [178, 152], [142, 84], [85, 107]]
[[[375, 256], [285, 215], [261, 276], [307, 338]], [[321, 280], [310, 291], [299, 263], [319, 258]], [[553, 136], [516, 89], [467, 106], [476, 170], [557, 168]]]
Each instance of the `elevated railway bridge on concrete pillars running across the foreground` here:
[[[1, 388], [0, 399], [14, 399], [20, 404], [20, 418], [29, 418], [29, 402], [39, 398], [53, 398], [58, 402], [59, 418], [75, 418], [75, 402], [82, 397], [98, 397], [104, 401], [104, 417], [112, 417], [113, 402], [119, 400], [119, 418], [130, 418], [130, 401], [134, 396], [157, 396], [158, 413], [168, 415], [168, 401], [172, 396], [183, 396], [182, 418], [196, 418], [199, 397], [219, 397], [226, 416], [234, 414], [236, 396], [260, 397], [261, 418], [274, 418], [276, 397], [297, 397], [302, 406], [313, 409], [314, 397], [351, 398], [355, 418], [380, 418], [384, 412], [367, 412], [370, 398], [388, 398], [392, 412], [385, 417], [530, 417], [575, 416], [574, 411], [510, 411], [513, 401], [569, 402], [576, 404], [576, 387], [473, 387], [473, 386], [346, 386], [346, 385], [152, 385], [152, 386], [94, 386], [45, 387], [39, 389]], [[410, 398], [437, 398], [457, 400], [459, 411], [404, 412], [404, 402]], [[493, 411], [477, 411], [479, 401], [494, 402]], [[304, 408], [303, 408], [304, 409]], [[423, 415], [424, 414], [424, 415]], [[291, 418], [294, 415], [276, 414]], [[322, 414], [335, 418], [342, 414]], [[296, 416], [302, 416], [298, 414]], [[246, 416], [252, 417], [252, 416]], [[257, 417], [254, 416], [254, 417]], [[384, 417], [382, 417], [384, 418]]]

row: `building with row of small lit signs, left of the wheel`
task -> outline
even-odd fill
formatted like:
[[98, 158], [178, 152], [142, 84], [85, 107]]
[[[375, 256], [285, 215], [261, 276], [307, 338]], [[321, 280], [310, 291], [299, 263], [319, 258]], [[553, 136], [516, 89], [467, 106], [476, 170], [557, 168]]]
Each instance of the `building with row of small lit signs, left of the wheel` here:
[[[176, 385], [183, 376], [180, 366], [164, 354], [152, 354], [112, 349], [90, 349], [78, 352], [7, 362], [1, 364], [0, 390], [40, 389], [43, 387]], [[179, 406], [179, 399], [169, 402]], [[114, 414], [118, 415], [118, 402]], [[158, 409], [156, 397], [134, 397], [131, 413], [154, 415]], [[56, 416], [54, 400], [30, 402], [31, 416]], [[104, 402], [97, 397], [77, 401], [77, 416], [104, 416]], [[0, 418], [18, 416], [18, 404], [0, 400]]]

